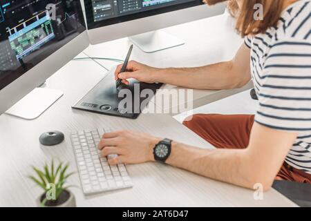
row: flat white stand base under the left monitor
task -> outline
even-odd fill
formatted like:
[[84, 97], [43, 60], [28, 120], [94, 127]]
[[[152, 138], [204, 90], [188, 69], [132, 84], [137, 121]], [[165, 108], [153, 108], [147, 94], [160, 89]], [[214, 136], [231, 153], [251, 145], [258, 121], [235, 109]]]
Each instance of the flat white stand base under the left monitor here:
[[50, 88], [35, 88], [12, 106], [6, 114], [23, 119], [35, 119], [54, 104], [64, 93]]

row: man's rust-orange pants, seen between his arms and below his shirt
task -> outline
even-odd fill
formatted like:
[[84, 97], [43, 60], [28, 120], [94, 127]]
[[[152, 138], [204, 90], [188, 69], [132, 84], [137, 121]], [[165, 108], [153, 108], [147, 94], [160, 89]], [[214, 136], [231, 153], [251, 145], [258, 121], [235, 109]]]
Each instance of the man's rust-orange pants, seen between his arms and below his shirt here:
[[[199, 114], [183, 122], [216, 148], [246, 148], [254, 124], [254, 115]], [[288, 180], [311, 184], [311, 174], [284, 164], [276, 180]]]

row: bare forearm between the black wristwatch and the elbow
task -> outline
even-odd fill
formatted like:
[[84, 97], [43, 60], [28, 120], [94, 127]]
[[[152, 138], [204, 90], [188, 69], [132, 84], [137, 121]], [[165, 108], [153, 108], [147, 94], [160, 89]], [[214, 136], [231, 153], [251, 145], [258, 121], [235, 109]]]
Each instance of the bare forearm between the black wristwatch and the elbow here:
[[256, 183], [246, 149], [207, 150], [173, 142], [167, 164], [249, 189]]

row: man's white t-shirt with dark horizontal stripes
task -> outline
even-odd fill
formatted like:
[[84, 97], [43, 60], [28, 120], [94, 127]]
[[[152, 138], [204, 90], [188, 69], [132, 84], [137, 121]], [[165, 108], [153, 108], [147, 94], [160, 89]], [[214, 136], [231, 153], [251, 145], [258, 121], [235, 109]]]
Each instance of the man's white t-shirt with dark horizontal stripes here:
[[255, 121], [298, 133], [285, 162], [311, 173], [311, 0], [293, 3], [276, 28], [245, 44], [259, 101]]

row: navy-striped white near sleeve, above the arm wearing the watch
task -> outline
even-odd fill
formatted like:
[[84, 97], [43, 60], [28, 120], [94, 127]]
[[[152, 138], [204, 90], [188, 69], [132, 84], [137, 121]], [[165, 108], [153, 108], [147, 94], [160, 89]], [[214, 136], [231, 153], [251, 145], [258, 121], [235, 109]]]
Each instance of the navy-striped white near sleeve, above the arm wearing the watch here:
[[261, 80], [256, 122], [283, 131], [311, 131], [311, 41], [276, 42]]

